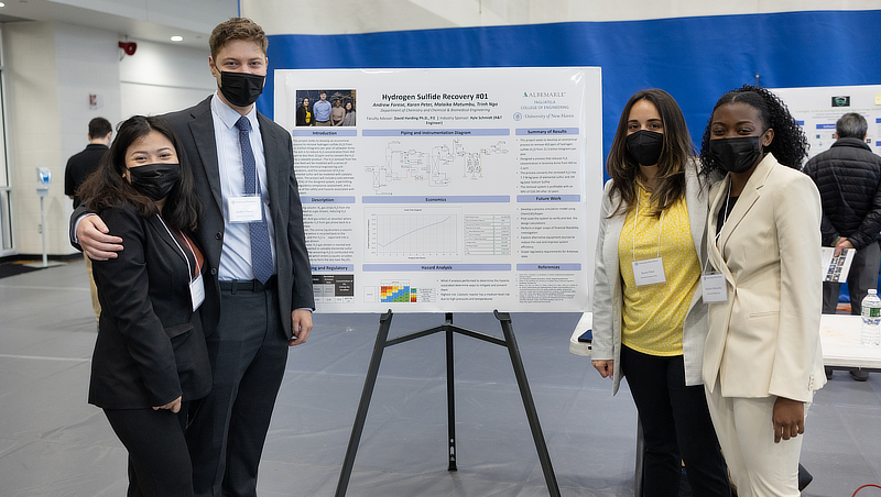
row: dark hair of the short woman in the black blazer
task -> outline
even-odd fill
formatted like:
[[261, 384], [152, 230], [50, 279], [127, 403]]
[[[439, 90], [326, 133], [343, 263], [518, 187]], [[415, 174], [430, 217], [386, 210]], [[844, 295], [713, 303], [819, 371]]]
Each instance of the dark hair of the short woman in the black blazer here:
[[126, 152], [129, 146], [153, 131], [172, 142], [181, 163], [181, 178], [165, 198], [162, 219], [175, 230], [193, 231], [202, 217], [202, 202], [196, 197], [193, 186], [193, 172], [189, 169], [177, 134], [171, 124], [160, 117], [134, 115], [123, 121], [117, 129], [117, 137], [101, 158], [98, 169], [79, 187], [77, 196], [94, 212], [121, 203], [131, 203], [142, 218], [157, 213], [156, 203], [150, 197], [139, 194], [122, 176], [128, 170]]

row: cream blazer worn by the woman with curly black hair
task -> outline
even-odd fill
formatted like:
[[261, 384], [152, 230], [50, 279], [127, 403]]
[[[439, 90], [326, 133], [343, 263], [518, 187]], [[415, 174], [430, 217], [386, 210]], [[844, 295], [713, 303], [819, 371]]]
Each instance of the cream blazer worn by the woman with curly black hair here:
[[730, 176], [710, 188], [708, 257], [728, 300], [709, 305], [704, 383], [725, 397], [780, 396], [809, 402], [826, 383], [820, 202], [814, 181], [768, 154], [714, 243]]

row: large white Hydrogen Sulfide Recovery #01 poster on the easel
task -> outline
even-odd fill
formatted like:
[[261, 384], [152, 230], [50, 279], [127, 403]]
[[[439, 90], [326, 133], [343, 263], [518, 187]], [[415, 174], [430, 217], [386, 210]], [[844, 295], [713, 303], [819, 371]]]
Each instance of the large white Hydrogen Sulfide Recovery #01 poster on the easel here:
[[274, 77], [318, 311], [588, 309], [599, 68]]

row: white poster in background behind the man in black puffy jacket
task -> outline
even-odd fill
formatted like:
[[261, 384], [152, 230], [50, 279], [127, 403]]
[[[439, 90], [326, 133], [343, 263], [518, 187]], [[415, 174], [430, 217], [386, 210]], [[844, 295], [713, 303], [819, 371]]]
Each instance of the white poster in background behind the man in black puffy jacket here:
[[811, 145], [808, 158], [835, 143], [835, 123], [848, 112], [866, 118], [866, 143], [881, 154], [881, 85], [776, 88], [773, 90], [798, 120]]

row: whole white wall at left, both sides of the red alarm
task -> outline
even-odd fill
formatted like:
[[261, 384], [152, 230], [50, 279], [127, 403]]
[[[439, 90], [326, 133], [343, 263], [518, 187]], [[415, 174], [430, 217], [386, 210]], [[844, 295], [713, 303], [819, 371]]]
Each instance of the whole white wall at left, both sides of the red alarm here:
[[[35, 173], [41, 166], [52, 170], [44, 199], [47, 252], [72, 254], [64, 168], [88, 144], [88, 122], [104, 117], [116, 126], [133, 114], [155, 115], [204, 99], [216, 87], [207, 37], [205, 49], [133, 40], [138, 51], [120, 60], [116, 32], [20, 22], [6, 24], [3, 34], [13, 253], [43, 252]], [[89, 109], [89, 93], [99, 96], [100, 108]]]

